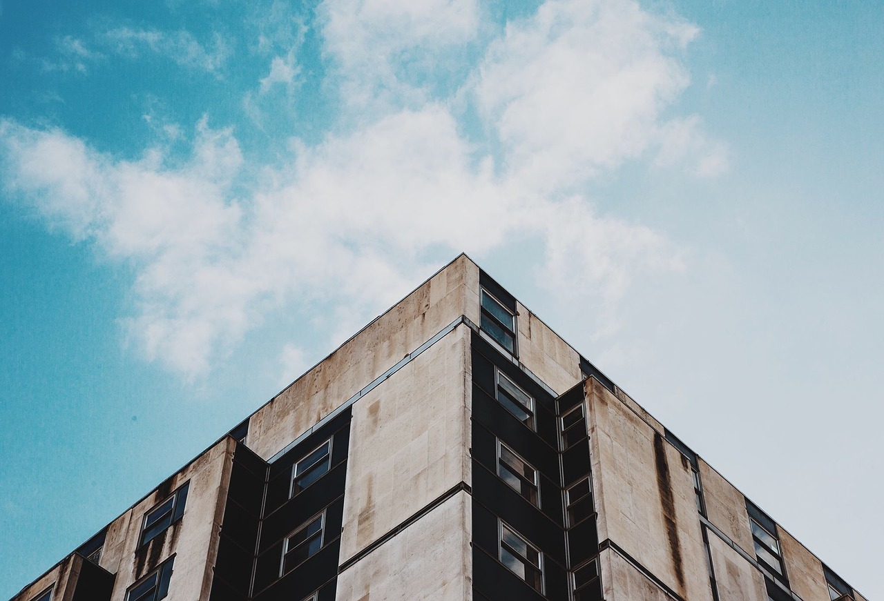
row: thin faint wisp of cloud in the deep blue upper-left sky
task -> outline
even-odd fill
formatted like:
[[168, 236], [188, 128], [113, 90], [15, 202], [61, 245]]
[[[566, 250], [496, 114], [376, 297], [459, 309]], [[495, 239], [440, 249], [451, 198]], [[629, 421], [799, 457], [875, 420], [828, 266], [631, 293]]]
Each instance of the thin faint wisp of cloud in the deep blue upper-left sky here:
[[232, 49], [220, 34], [214, 34], [210, 47], [186, 30], [164, 32], [157, 29], [114, 27], [103, 35], [103, 42], [118, 54], [137, 58], [145, 52], [165, 57], [178, 65], [218, 73], [231, 57]]

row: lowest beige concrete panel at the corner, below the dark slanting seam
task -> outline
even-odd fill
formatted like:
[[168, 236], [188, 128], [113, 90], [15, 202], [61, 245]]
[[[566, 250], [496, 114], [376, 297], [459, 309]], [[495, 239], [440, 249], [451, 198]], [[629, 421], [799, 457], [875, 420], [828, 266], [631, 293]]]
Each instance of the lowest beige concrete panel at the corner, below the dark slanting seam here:
[[472, 598], [470, 497], [459, 492], [338, 576], [338, 601]]

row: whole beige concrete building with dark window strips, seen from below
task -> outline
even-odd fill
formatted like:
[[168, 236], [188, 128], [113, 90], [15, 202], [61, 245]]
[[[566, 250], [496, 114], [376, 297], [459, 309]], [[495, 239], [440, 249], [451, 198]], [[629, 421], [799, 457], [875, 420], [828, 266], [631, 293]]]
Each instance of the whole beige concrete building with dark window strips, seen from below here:
[[865, 601], [466, 255], [13, 601], [162, 598]]

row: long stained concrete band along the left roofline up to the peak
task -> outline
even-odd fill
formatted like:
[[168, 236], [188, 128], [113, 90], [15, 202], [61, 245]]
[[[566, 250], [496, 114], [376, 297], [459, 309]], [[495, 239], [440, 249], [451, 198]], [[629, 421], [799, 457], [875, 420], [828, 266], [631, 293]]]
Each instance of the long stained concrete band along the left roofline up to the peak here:
[[479, 323], [478, 293], [479, 269], [461, 255], [255, 412], [249, 448], [271, 458], [458, 317]]

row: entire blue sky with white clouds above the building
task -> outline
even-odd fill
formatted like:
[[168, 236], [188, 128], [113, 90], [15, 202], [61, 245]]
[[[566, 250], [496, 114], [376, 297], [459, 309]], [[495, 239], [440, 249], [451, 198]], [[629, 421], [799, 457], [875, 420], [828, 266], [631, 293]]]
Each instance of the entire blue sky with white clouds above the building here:
[[466, 251], [884, 597], [884, 4], [0, 4], [0, 598]]

